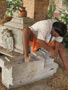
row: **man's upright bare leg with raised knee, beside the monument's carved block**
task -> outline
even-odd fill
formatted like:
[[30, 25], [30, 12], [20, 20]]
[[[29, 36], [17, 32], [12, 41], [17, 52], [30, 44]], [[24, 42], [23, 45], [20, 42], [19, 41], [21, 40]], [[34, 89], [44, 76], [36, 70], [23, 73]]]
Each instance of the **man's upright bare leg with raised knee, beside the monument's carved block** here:
[[23, 46], [24, 46], [24, 57], [25, 60], [29, 58], [29, 42], [33, 39], [32, 31], [26, 27], [23, 32]]

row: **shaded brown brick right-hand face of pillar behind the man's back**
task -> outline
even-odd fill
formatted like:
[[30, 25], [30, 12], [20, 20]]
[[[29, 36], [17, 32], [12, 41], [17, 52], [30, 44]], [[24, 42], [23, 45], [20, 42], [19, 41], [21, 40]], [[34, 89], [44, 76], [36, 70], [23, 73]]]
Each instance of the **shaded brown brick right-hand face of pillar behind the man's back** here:
[[46, 18], [48, 14], [48, 0], [36, 0], [35, 1], [35, 12], [34, 12], [34, 19], [35, 20], [42, 20]]

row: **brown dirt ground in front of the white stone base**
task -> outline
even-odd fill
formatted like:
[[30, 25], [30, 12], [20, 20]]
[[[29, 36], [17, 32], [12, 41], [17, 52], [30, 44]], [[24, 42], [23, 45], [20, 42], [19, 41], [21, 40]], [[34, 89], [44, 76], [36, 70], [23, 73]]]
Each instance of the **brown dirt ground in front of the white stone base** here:
[[[68, 49], [66, 49], [65, 51], [68, 57]], [[52, 77], [9, 90], [68, 90], [68, 74], [64, 72], [64, 67], [59, 57], [55, 60], [55, 62], [59, 64], [59, 68]], [[1, 73], [0, 90], [8, 90], [1, 83]]]

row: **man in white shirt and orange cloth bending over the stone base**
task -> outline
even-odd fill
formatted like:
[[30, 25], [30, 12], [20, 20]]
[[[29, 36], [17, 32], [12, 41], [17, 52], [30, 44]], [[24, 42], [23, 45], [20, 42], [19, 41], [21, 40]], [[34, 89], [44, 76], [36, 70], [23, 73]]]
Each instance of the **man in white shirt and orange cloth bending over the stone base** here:
[[29, 56], [29, 46], [36, 52], [40, 48], [47, 50], [51, 57], [55, 58], [58, 53], [63, 61], [65, 69], [68, 71], [64, 46], [61, 44], [63, 36], [67, 32], [67, 26], [62, 22], [52, 20], [42, 20], [31, 27], [26, 27], [23, 33], [24, 57], [25, 62], [31, 60]]

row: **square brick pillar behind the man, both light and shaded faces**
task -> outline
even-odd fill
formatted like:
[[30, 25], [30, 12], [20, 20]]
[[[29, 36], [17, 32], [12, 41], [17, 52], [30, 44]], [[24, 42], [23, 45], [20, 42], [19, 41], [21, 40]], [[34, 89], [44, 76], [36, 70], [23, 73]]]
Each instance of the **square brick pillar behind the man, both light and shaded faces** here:
[[35, 21], [45, 19], [47, 15], [49, 0], [23, 0], [23, 6], [26, 7], [27, 16]]

